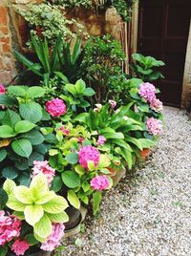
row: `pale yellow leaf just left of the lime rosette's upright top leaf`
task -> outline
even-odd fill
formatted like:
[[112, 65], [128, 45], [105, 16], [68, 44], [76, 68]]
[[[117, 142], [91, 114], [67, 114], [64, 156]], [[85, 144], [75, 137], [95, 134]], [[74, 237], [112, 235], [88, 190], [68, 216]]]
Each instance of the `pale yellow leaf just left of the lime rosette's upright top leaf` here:
[[21, 203], [32, 204], [34, 202], [29, 187], [24, 185], [14, 187], [14, 196]]

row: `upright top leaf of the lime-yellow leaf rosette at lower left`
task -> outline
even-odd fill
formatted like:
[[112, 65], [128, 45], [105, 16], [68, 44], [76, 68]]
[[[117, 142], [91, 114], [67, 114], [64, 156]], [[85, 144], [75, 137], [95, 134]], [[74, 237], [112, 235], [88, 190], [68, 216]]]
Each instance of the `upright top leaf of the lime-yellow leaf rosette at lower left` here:
[[40, 198], [47, 193], [49, 190], [48, 188], [48, 181], [45, 175], [42, 173], [39, 173], [36, 175], [31, 182], [30, 185], [30, 191], [32, 194], [32, 197], [37, 201], [40, 200]]

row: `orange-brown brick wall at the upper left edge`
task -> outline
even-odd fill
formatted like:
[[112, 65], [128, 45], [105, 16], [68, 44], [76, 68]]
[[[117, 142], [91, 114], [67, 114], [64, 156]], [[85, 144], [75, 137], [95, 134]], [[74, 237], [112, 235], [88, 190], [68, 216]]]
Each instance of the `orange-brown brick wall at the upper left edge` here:
[[10, 16], [6, 5], [0, 2], [0, 83], [9, 83], [15, 75], [11, 54]]

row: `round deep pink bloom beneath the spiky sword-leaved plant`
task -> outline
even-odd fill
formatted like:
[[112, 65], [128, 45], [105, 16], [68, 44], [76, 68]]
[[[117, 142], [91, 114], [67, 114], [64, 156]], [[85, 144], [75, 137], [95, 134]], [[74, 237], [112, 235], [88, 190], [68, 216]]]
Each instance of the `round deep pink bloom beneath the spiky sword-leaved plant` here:
[[60, 117], [66, 113], [66, 105], [60, 98], [53, 98], [47, 101], [46, 110], [52, 117]]

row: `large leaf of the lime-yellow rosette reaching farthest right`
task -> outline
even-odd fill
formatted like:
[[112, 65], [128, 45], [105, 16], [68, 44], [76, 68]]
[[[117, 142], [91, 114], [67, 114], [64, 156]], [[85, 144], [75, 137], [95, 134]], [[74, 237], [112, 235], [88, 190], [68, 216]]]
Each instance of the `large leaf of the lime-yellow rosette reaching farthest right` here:
[[44, 211], [55, 214], [63, 212], [69, 205], [64, 198], [55, 196], [52, 200], [42, 206]]

